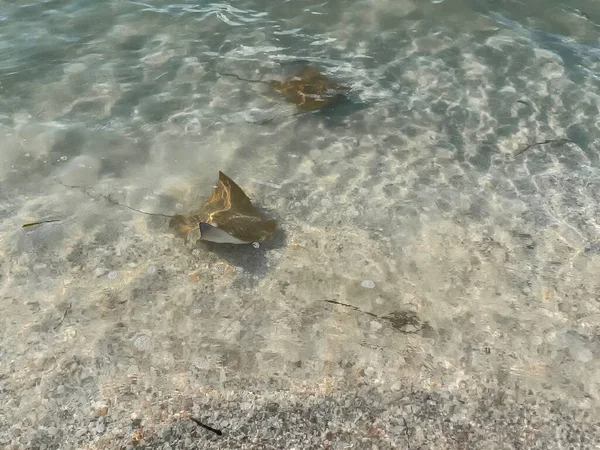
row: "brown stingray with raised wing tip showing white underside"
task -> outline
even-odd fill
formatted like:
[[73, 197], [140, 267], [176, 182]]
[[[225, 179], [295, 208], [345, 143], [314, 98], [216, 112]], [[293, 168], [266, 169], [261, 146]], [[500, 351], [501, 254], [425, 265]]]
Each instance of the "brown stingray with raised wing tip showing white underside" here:
[[270, 237], [277, 223], [260, 213], [244, 191], [219, 171], [219, 181], [210, 199], [189, 216], [174, 216], [169, 227], [183, 236], [199, 229], [200, 239], [206, 241], [248, 244]]

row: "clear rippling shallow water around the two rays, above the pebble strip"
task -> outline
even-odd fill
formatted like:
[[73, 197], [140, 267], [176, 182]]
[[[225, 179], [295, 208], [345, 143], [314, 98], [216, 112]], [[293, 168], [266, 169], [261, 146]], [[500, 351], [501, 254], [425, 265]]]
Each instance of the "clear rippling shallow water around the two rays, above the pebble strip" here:
[[[270, 379], [593, 415], [599, 44], [592, 0], [0, 3], [0, 443], [119, 448], [132, 412]], [[348, 100], [217, 73], [303, 63]], [[183, 213], [219, 170], [272, 240], [190, 248], [103, 198]]]

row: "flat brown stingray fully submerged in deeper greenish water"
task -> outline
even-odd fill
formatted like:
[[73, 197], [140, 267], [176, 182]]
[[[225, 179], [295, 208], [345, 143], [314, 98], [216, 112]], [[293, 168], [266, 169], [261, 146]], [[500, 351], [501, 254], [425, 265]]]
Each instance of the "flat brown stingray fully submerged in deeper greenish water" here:
[[341, 100], [350, 88], [330, 81], [313, 67], [307, 66], [297, 75], [270, 86], [303, 111], [314, 111]]

